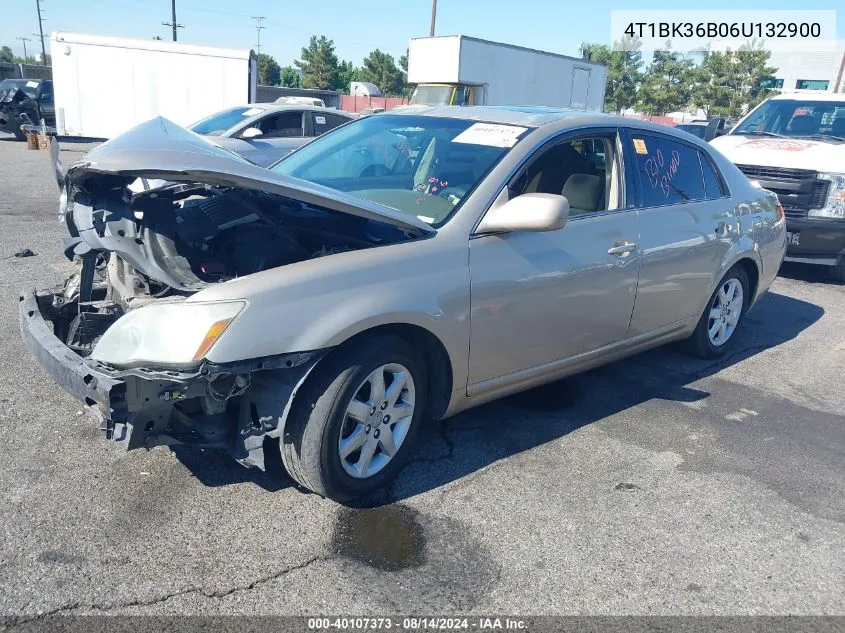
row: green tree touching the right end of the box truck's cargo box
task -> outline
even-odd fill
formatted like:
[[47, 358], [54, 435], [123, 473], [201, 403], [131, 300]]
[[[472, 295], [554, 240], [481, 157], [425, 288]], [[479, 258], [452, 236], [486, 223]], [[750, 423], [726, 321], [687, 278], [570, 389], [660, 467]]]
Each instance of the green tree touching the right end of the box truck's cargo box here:
[[642, 82], [643, 64], [640, 42], [625, 38], [613, 48], [604, 44], [581, 44], [581, 59], [607, 66], [604, 109], [621, 112], [637, 102], [637, 90]]

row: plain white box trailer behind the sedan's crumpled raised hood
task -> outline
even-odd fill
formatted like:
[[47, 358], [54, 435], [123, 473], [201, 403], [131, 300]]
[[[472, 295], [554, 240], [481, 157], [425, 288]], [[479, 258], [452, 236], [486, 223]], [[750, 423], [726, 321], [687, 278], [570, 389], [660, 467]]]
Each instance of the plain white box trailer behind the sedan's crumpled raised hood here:
[[60, 137], [112, 138], [156, 116], [190, 125], [255, 101], [247, 49], [53, 33], [50, 52]]

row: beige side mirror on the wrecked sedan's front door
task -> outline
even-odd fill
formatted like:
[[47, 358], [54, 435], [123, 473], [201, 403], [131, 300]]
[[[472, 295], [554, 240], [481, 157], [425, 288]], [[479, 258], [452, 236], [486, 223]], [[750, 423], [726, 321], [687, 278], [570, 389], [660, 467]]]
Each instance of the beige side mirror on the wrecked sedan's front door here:
[[569, 219], [569, 200], [551, 193], [524, 193], [491, 208], [476, 233], [557, 231]]

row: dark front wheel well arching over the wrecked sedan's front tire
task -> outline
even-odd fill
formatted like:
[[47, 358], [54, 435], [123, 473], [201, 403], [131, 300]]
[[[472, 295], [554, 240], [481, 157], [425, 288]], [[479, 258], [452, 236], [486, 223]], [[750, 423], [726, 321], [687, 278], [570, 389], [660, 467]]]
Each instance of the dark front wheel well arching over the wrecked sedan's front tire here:
[[442, 417], [446, 412], [446, 407], [449, 406], [453, 378], [449, 353], [440, 339], [418, 325], [390, 323], [359, 332], [345, 340], [336, 349], [343, 349], [362, 338], [377, 335], [396, 336], [410, 342], [415, 349], [422, 352], [428, 374], [428, 399], [431, 407], [429, 415], [435, 420]]

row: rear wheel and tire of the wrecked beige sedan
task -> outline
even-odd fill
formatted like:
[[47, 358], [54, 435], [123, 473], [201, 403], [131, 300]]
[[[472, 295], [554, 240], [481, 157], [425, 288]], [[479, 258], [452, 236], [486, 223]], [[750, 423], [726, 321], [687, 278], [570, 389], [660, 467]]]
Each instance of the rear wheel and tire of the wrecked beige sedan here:
[[[737, 287], [742, 292], [741, 297], [737, 297], [735, 294]], [[713, 294], [707, 301], [704, 313], [698, 320], [695, 331], [684, 341], [684, 349], [693, 356], [703, 359], [719, 358], [730, 349], [731, 344], [736, 338], [736, 330], [742, 323], [742, 319], [745, 317], [745, 312], [748, 309], [748, 302], [751, 299], [749, 288], [748, 275], [742, 266], [734, 266], [725, 273], [725, 276], [719, 281], [719, 285], [716, 286], [716, 290], [713, 291]], [[725, 295], [720, 296], [720, 293], [723, 289], [730, 289], [734, 293], [733, 300], [736, 301], [739, 299], [740, 301], [734, 309], [730, 307], [725, 308], [725, 312], [722, 313], [724, 319], [722, 317], [713, 319], [711, 318], [711, 311], [722, 310], [724, 303], [723, 297]], [[738, 313], [736, 312], [737, 309]], [[711, 335], [710, 330], [714, 326], [718, 326], [720, 320], [724, 325], [724, 329], [717, 328], [716, 335]]]

